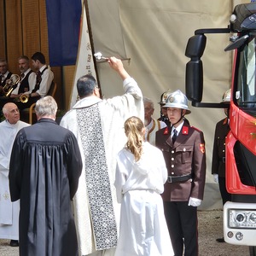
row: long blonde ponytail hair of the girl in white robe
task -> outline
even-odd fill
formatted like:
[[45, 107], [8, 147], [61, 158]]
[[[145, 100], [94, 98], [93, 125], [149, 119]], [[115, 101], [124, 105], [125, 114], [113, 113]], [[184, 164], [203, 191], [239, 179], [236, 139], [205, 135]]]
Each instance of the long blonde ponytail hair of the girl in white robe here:
[[136, 116], [125, 121], [125, 135], [128, 138], [126, 148], [134, 154], [136, 161], [141, 159], [143, 154], [143, 121]]

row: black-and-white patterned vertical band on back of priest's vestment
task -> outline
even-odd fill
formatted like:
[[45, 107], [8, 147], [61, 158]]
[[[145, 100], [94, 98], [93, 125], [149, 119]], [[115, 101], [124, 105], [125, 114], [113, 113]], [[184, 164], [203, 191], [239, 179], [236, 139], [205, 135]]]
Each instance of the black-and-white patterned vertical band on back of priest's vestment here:
[[116, 247], [117, 226], [98, 104], [78, 109], [77, 119], [84, 150], [85, 177], [96, 250]]

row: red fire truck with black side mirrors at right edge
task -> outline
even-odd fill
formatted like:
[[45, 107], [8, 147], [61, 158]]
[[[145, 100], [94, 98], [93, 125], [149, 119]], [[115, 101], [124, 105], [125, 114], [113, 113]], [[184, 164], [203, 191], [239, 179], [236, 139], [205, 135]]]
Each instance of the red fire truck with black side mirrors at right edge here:
[[250, 255], [256, 255], [256, 3], [237, 5], [227, 28], [196, 30], [187, 44], [189, 101], [199, 108], [225, 108], [223, 103], [201, 102], [201, 56], [210, 33], [228, 33], [231, 43], [224, 50], [235, 50], [225, 161], [226, 187], [232, 201], [224, 205], [224, 240], [250, 246]]

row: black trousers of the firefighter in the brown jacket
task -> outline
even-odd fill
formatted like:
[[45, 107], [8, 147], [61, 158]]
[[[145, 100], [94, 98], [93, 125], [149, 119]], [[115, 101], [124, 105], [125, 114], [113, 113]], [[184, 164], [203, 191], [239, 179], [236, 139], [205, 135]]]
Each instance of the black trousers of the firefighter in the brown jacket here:
[[198, 256], [197, 207], [188, 201], [164, 201], [166, 223], [175, 256]]

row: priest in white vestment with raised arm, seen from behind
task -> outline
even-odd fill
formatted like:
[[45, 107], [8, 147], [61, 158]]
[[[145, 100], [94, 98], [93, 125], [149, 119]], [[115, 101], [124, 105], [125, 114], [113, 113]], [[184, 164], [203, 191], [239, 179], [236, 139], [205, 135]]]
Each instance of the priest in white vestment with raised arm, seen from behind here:
[[83, 171], [73, 199], [79, 255], [112, 256], [117, 245], [120, 206], [114, 188], [116, 156], [126, 142], [124, 123], [132, 115], [143, 119], [143, 95], [122, 61], [108, 59], [123, 80], [125, 94], [100, 99], [96, 80], [78, 80], [81, 100], [61, 119], [79, 142]]

